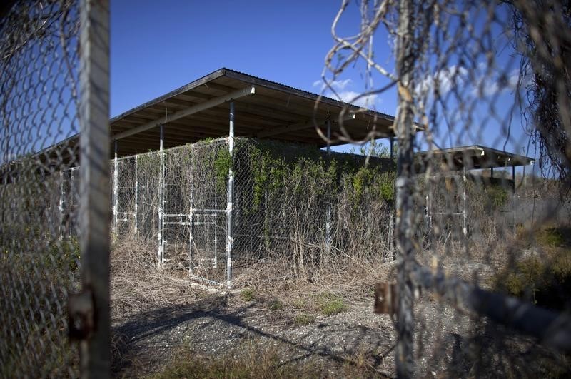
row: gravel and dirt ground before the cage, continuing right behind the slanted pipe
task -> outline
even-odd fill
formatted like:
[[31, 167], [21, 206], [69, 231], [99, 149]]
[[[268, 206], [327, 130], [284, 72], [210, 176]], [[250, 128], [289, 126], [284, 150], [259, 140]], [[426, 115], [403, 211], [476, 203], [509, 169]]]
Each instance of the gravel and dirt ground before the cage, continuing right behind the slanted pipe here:
[[[345, 302], [343, 310], [332, 315], [324, 315], [308, 304], [291, 305], [290, 298], [268, 299], [263, 294], [248, 294], [247, 300], [244, 297], [239, 292], [193, 293], [185, 303], [153, 306], [114, 320], [114, 375], [146, 377], [162, 373], [178, 365], [181, 357], [246, 359], [253, 347], [258, 352], [271, 350], [278, 356], [279, 366], [309, 363], [319, 367], [310, 376], [395, 375], [393, 321], [389, 315], [373, 313], [372, 295]], [[474, 320], [429, 295], [418, 300], [415, 320], [418, 376], [568, 373], [560, 358], [538, 347], [535, 341], [485, 320]], [[530, 360], [535, 363], [530, 364]]]

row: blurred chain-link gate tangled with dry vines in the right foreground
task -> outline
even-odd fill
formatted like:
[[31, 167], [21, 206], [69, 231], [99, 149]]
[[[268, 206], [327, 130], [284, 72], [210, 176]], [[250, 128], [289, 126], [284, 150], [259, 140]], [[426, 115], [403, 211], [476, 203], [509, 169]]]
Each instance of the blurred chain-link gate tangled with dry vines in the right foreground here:
[[[343, 1], [333, 21], [326, 94], [357, 67], [359, 98], [398, 98], [398, 306], [389, 311], [401, 376], [568, 373], [565, 357], [538, 344], [568, 349], [568, 325], [560, 325], [568, 318], [538, 317], [474, 285], [570, 309], [570, 19], [568, 1], [363, 0], [357, 9]], [[341, 35], [338, 25], [351, 20], [355, 34]], [[415, 134], [415, 126], [424, 131]], [[516, 156], [433, 153], [475, 144], [536, 164], [512, 171]], [[415, 160], [419, 151], [428, 153]], [[450, 302], [414, 298], [417, 286]], [[450, 304], [540, 338], [507, 333]]]

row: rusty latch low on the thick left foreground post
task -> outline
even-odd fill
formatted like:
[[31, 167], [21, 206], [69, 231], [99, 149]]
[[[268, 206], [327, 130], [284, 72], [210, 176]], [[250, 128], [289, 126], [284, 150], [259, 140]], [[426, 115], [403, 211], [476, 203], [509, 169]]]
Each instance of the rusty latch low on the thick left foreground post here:
[[85, 340], [94, 330], [94, 298], [90, 289], [69, 295], [68, 330], [71, 340]]

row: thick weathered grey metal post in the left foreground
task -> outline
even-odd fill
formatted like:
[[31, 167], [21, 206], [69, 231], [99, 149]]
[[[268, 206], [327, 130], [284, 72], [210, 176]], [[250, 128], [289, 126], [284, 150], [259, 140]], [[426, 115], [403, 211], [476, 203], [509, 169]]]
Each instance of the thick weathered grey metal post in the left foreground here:
[[93, 329], [80, 343], [81, 376], [108, 378], [109, 315], [109, 4], [82, 0], [79, 122], [81, 135], [81, 281], [93, 300]]

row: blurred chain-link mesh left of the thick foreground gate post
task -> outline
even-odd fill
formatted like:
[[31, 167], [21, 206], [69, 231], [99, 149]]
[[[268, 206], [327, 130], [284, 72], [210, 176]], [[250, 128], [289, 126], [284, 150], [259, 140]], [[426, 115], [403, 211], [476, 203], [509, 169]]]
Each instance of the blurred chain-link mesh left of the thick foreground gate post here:
[[[66, 300], [77, 283], [79, 7], [16, 1], [0, 19], [0, 376], [76, 376]], [[71, 158], [70, 158], [71, 157]], [[75, 192], [76, 193], [76, 192]]]

